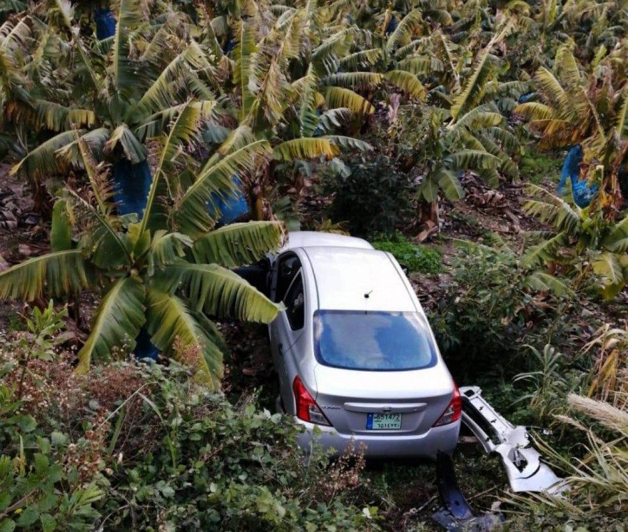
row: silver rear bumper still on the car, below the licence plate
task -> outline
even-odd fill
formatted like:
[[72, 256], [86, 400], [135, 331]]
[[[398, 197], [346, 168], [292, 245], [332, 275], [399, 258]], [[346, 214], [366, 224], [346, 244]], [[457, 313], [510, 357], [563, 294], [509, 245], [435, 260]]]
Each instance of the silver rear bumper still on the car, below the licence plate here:
[[454, 452], [460, 432], [460, 421], [444, 425], [444, 427], [432, 427], [424, 434], [412, 436], [338, 434], [334, 427], [315, 425], [299, 419], [296, 421], [305, 427], [305, 431], [297, 436], [299, 446], [304, 450], [310, 450], [312, 445], [318, 444], [326, 451], [333, 449], [333, 455], [342, 455], [347, 445], [353, 440], [356, 452], [364, 442], [366, 445], [364, 455], [369, 458], [435, 459], [439, 451], [448, 454]]

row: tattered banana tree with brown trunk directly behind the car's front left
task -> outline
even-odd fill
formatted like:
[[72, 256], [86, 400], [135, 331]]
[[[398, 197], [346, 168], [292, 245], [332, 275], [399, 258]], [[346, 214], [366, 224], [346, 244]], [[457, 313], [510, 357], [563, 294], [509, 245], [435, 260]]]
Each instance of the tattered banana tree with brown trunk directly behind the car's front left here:
[[[329, 160], [342, 148], [368, 149], [365, 142], [333, 134], [351, 112], [368, 114], [373, 106], [350, 89], [320, 87], [317, 72], [344, 49], [348, 33], [341, 31], [314, 45], [318, 36], [313, 35], [309, 22], [317, 14], [311, 9], [309, 4], [285, 8], [270, 23], [269, 17], [253, 17], [253, 21], [233, 24], [235, 47], [228, 59], [236, 96], [234, 114], [240, 126], [250, 128], [255, 138], [269, 140], [274, 147], [271, 161], [260, 165], [254, 175], [242, 176], [253, 219], [264, 216], [265, 190], [275, 181], [277, 162]], [[305, 61], [306, 48], [311, 53], [310, 63]], [[304, 74], [293, 80], [292, 75], [298, 76], [304, 66]], [[327, 112], [320, 112], [323, 106], [329, 107]]]

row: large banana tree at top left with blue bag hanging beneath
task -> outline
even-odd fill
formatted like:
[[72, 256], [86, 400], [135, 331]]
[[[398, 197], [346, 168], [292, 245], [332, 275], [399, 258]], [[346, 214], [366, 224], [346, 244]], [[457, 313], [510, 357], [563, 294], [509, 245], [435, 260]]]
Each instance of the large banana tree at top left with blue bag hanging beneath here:
[[161, 10], [161, 4], [119, 1], [115, 34], [103, 41], [84, 38], [73, 6], [63, 1], [59, 6], [47, 10], [47, 24], [38, 22], [39, 34], [68, 36], [58, 55], [72, 57], [73, 65], [57, 68], [66, 77], [36, 82], [30, 105], [14, 113], [15, 120], [43, 129], [50, 138], [30, 149], [12, 171], [27, 175], [36, 186], [43, 177], [66, 175], [82, 162], [78, 128], [96, 161], [112, 163], [123, 212], [135, 212], [136, 207], [124, 206], [137, 204], [149, 189], [147, 140], [163, 131], [177, 107], [190, 98], [211, 102], [214, 112], [204, 119], [207, 124], [218, 121], [218, 87], [212, 86], [216, 68], [190, 36], [188, 18]]

